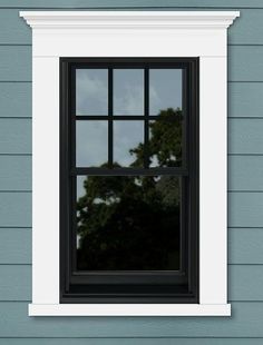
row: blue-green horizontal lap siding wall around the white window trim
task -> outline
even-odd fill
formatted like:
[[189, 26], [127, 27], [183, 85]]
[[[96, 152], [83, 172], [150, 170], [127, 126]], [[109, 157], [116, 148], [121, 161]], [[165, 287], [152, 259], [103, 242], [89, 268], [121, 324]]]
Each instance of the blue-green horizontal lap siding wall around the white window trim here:
[[[228, 30], [228, 300], [232, 317], [28, 317], [31, 300], [31, 30], [19, 18], [22, 9], [241, 11], [241, 18]], [[43, 217], [48, 217], [45, 209]], [[0, 345], [262, 344], [262, 249], [261, 0], [0, 0]]]

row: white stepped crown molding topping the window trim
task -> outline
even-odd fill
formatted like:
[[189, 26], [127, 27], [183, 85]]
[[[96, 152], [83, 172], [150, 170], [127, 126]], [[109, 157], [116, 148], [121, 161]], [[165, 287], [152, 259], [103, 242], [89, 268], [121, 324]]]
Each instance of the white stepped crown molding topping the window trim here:
[[238, 11], [20, 11], [32, 29], [226, 29]]

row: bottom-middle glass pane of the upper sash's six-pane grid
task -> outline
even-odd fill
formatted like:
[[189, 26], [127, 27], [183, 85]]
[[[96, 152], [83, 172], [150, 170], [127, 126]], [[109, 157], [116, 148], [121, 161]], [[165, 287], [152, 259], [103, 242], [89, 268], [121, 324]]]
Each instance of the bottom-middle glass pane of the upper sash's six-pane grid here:
[[144, 121], [114, 121], [114, 162], [121, 167], [144, 165]]

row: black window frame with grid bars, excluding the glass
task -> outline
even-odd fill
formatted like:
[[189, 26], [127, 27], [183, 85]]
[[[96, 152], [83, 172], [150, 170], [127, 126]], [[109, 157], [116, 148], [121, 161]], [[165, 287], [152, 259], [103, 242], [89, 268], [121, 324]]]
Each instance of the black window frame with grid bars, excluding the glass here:
[[[198, 58], [60, 58], [60, 303], [198, 303]], [[143, 175], [173, 175], [183, 177], [184, 208], [184, 272], [91, 272], [72, 268], [72, 224], [76, 203], [77, 175], [100, 175], [101, 168], [76, 168], [76, 119], [96, 119], [78, 116], [75, 111], [75, 72], [77, 68], [109, 70], [109, 134], [113, 132], [113, 70], [115, 68], [145, 70], [145, 115], [148, 121], [148, 70], [152, 68], [183, 69], [183, 166], [174, 168], [142, 168]], [[107, 116], [106, 116], [107, 117]], [[118, 119], [124, 117], [116, 116]], [[130, 119], [130, 115], [126, 116]], [[138, 119], [139, 116], [136, 116]], [[145, 118], [147, 117], [147, 118]], [[153, 118], [156, 116], [153, 116]], [[103, 116], [99, 116], [101, 119]], [[111, 122], [111, 125], [110, 125]], [[147, 136], [147, 134], [145, 134]], [[113, 141], [109, 135], [108, 140]], [[147, 140], [147, 138], [146, 138]], [[72, 145], [74, 142], [74, 145]], [[107, 175], [142, 175], [140, 168], [114, 168], [109, 152]], [[133, 169], [133, 171], [130, 170]], [[104, 172], [103, 172], [104, 174]], [[186, 217], [187, 215], [187, 217]], [[135, 284], [136, 282], [136, 284]], [[114, 283], [114, 284], [113, 284]]]

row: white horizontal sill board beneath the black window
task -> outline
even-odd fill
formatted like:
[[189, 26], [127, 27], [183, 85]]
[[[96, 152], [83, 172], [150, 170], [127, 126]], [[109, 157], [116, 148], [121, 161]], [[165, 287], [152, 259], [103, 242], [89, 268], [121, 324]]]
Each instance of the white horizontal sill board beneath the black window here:
[[230, 304], [29, 304], [29, 316], [231, 316]]

